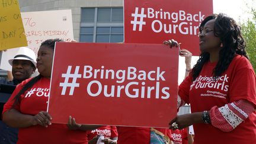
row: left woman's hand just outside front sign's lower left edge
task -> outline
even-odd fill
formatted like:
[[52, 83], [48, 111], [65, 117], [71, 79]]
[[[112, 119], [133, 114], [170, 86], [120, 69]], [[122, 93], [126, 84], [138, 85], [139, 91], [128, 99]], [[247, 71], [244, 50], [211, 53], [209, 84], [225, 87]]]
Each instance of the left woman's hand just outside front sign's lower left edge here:
[[47, 113], [46, 111], [40, 111], [38, 114], [36, 114], [33, 117], [32, 124], [33, 126], [36, 126], [37, 124], [39, 124], [40, 126], [48, 127], [49, 125], [52, 124], [50, 122], [51, 120], [52, 120], [52, 117], [50, 116], [49, 113]]

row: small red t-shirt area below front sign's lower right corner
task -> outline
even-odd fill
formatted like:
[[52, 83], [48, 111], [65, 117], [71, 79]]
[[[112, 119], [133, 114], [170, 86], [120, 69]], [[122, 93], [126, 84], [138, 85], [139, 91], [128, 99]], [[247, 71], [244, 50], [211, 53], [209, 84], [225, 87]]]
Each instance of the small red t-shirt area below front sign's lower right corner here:
[[171, 130], [171, 140], [172, 142], [174, 142], [174, 144], [187, 144], [188, 143], [187, 129]]

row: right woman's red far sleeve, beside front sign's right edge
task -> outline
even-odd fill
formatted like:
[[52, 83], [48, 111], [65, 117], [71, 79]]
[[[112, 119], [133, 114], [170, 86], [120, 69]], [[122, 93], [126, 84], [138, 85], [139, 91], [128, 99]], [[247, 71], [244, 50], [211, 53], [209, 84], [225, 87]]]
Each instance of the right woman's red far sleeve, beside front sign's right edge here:
[[180, 95], [181, 100], [185, 101], [185, 103], [189, 104], [189, 91], [190, 91], [190, 85], [192, 81], [192, 72], [189, 73], [187, 78], [184, 79], [183, 82], [181, 82], [178, 90], [178, 95]]

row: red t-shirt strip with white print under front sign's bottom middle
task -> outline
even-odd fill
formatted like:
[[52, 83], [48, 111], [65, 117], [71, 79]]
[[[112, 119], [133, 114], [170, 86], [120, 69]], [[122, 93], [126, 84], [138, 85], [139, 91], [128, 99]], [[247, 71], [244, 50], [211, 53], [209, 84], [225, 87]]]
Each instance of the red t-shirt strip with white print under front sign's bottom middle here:
[[115, 126], [102, 126], [98, 127], [95, 130], [91, 130], [88, 132], [88, 140], [93, 139], [95, 136], [102, 135], [105, 138], [112, 139], [117, 137], [117, 128]]

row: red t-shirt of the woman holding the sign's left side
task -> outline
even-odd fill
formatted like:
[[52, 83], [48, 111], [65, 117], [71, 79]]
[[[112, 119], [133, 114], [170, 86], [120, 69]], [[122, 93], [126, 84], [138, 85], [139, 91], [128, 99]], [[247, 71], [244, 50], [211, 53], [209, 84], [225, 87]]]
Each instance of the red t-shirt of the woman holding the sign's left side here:
[[[13, 98], [30, 79], [18, 85], [11, 97], [4, 105], [5, 111], [11, 109]], [[15, 105], [15, 109], [23, 114], [36, 115], [40, 111], [46, 111], [49, 97], [50, 79], [41, 78], [33, 87], [21, 95], [21, 102]], [[64, 105], [63, 105], [64, 106]], [[54, 119], [54, 117], [53, 117]], [[67, 118], [68, 122], [68, 118]], [[87, 132], [81, 130], [69, 130], [66, 124], [52, 124], [50, 126], [30, 126], [19, 129], [18, 144], [24, 143], [88, 143]]]

